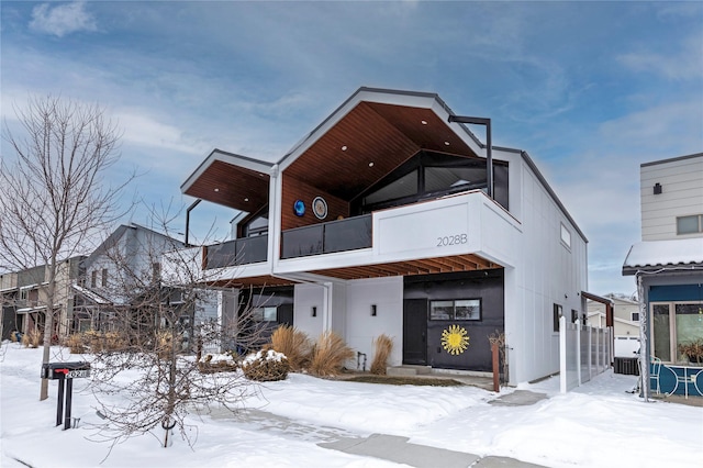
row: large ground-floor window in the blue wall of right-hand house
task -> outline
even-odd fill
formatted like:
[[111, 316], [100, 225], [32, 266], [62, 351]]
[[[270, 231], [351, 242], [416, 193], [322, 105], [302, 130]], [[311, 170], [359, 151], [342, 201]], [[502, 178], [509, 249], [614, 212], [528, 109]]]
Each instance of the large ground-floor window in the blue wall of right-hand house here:
[[652, 353], [667, 363], [687, 363], [680, 345], [703, 339], [703, 302], [651, 304]]

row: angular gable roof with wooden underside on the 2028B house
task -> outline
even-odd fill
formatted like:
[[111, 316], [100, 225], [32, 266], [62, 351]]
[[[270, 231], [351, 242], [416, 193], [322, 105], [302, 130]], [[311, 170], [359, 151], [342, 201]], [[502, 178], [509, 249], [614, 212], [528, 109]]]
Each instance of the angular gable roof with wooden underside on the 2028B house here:
[[[181, 185], [181, 191], [256, 213], [268, 202], [270, 175], [279, 170], [348, 202], [421, 149], [486, 157], [486, 144], [467, 125], [449, 122], [453, 115], [436, 93], [361, 87], [277, 163], [215, 149]], [[588, 242], [529, 156], [500, 149], [522, 156]]]

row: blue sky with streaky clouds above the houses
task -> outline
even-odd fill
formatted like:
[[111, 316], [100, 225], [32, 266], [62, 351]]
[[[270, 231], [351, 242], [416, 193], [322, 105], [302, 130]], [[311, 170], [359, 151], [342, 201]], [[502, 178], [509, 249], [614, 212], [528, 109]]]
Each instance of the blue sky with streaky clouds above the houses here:
[[[437, 92], [536, 161], [589, 238], [589, 289], [632, 293], [621, 268], [640, 238], [639, 165], [703, 151], [701, 2], [0, 9], [2, 119], [12, 129], [35, 94], [98, 102], [124, 132], [115, 176], [144, 172], [132, 190], [146, 205], [188, 207], [180, 185], [214, 147], [280, 158], [360, 86]], [[233, 214], [201, 203], [191, 236], [214, 222], [225, 237]]]

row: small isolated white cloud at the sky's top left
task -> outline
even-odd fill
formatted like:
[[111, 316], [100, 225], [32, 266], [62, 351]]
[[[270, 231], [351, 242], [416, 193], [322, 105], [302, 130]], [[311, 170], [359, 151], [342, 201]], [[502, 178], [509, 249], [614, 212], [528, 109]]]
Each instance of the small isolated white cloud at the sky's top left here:
[[51, 8], [49, 3], [42, 3], [32, 10], [30, 29], [57, 37], [80, 31], [97, 31], [96, 19], [85, 7], [86, 3], [82, 1], [54, 8]]

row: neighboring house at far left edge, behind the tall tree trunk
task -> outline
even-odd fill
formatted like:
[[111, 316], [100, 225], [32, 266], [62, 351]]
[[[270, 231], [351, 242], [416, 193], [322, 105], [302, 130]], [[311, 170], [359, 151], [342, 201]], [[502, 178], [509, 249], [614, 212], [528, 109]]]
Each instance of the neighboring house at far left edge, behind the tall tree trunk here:
[[[81, 261], [76, 256], [58, 264], [55, 279], [56, 313], [52, 336], [63, 338], [70, 333], [75, 313], [75, 297], [71, 285], [81, 277]], [[16, 272], [4, 274], [0, 279], [2, 297], [2, 337], [16, 330], [22, 333], [43, 332], [46, 323], [48, 268], [37, 266]]]

